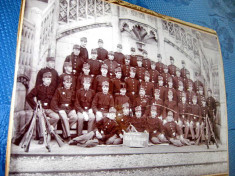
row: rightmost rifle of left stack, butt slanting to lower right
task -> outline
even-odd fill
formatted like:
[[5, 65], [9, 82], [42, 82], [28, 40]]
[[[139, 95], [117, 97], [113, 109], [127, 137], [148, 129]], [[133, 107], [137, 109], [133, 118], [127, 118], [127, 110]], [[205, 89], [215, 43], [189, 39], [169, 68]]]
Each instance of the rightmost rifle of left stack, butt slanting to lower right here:
[[[44, 109], [42, 108], [41, 102], [39, 102], [39, 107], [40, 107], [42, 115], [43, 115], [43, 117], [46, 121], [46, 126], [47, 126], [48, 133], [55, 138], [55, 140], [56, 140], [57, 144], [59, 145], [59, 147], [62, 147], [64, 145], [63, 139], [56, 133], [54, 127], [50, 124], [49, 120], [47, 119], [46, 114], [44, 112]], [[50, 141], [50, 135], [47, 136], [47, 142]]]

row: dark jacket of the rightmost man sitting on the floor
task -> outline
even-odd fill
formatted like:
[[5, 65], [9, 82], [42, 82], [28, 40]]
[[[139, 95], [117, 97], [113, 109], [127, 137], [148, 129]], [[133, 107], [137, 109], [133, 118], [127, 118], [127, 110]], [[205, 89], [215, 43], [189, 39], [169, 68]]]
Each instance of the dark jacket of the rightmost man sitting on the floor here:
[[174, 121], [167, 122], [164, 125], [164, 132], [167, 139], [176, 138], [177, 135], [183, 134], [180, 127]]

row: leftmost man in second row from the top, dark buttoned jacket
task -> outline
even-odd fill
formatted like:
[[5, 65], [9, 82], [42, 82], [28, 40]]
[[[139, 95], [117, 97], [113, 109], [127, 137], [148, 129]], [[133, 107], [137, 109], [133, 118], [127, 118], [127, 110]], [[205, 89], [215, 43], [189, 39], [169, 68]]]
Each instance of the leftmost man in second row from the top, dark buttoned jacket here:
[[81, 47], [79, 45], [73, 46], [73, 52], [67, 56], [64, 62], [71, 62], [73, 68], [73, 75], [77, 78], [82, 71], [82, 65], [85, 62], [84, 57], [80, 55]]

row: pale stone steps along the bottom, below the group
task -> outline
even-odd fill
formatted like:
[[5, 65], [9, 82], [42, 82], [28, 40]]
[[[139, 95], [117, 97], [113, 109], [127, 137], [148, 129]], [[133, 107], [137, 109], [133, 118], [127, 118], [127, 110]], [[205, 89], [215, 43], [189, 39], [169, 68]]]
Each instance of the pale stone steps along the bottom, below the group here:
[[97, 146], [59, 148], [50, 153], [32, 141], [29, 153], [12, 146], [10, 175], [207, 175], [227, 173], [225, 146], [153, 145], [147, 148]]

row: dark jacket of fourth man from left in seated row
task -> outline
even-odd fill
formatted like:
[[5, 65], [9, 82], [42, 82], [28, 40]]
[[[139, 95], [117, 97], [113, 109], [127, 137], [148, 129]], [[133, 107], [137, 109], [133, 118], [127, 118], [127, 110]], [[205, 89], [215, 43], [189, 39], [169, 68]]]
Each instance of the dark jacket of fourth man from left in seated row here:
[[114, 107], [114, 99], [110, 94], [104, 94], [103, 92], [96, 93], [92, 101], [92, 109], [94, 112], [104, 111], [108, 112], [110, 107]]

